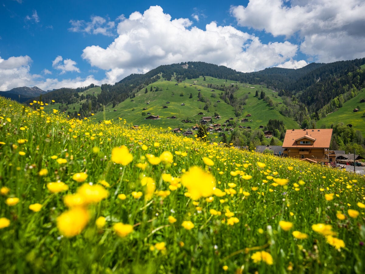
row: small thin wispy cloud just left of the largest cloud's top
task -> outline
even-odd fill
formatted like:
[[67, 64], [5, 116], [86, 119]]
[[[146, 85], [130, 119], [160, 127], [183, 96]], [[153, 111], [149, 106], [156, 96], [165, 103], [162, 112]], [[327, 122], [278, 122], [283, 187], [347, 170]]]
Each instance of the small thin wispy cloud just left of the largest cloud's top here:
[[[119, 16], [117, 19], [122, 20], [123, 17], [121, 16]], [[113, 30], [115, 28], [115, 23], [113, 21], [104, 19], [101, 16], [91, 16], [90, 19], [90, 22], [85, 22], [84, 20], [70, 20], [72, 27], [70, 27], [68, 30], [77, 33], [114, 36]]]

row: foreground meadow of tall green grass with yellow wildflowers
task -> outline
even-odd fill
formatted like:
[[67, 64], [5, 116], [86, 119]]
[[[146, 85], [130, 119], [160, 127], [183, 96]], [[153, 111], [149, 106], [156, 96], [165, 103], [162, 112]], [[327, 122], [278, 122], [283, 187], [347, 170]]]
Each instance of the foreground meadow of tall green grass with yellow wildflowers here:
[[364, 177], [34, 106], [0, 99], [1, 273], [364, 273]]

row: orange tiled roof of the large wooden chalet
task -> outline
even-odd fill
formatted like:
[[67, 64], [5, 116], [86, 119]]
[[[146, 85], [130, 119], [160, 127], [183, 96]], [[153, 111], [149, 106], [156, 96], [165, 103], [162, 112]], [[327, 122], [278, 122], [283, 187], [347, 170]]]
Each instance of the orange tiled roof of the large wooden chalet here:
[[[329, 148], [333, 129], [288, 129], [285, 133], [283, 148]], [[297, 144], [297, 140], [306, 135], [314, 138], [313, 144]], [[310, 138], [309, 138], [310, 139]]]

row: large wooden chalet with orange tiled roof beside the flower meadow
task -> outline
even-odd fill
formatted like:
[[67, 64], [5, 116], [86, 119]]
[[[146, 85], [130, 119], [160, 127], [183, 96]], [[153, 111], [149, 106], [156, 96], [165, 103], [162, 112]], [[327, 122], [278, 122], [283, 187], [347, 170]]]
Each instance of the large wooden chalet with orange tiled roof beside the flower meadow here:
[[328, 162], [332, 131], [333, 129], [288, 129], [283, 142], [284, 156], [317, 163]]

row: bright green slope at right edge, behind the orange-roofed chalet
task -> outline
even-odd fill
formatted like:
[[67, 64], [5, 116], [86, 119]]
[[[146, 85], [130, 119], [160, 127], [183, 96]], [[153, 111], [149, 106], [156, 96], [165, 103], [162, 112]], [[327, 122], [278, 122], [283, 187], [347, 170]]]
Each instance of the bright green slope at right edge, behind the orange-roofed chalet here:
[[[337, 111], [330, 113], [327, 117], [320, 119], [317, 122], [317, 128], [326, 127], [330, 128], [331, 124], [343, 122], [345, 125], [352, 124], [355, 130], [360, 130], [362, 134], [365, 134], [365, 102], [360, 102], [365, 99], [365, 88], [359, 91], [359, 93], [352, 99], [343, 103], [343, 107]], [[353, 109], [360, 107], [360, 111], [353, 112]]]

